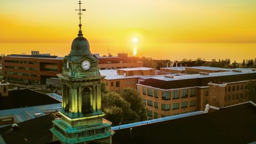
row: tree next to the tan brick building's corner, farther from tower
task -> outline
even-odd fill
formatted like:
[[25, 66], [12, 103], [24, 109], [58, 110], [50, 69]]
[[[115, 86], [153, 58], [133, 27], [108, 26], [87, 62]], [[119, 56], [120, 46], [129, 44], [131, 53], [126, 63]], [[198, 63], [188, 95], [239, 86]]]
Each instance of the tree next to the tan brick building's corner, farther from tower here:
[[120, 95], [131, 104], [131, 109], [139, 116], [140, 121], [146, 120], [146, 109], [140, 93], [132, 88], [124, 88]]

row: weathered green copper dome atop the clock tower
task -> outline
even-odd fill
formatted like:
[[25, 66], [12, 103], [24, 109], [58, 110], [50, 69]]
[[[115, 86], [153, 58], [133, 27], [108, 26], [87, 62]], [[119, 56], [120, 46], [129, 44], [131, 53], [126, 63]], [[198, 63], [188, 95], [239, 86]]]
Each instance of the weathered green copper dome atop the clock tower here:
[[71, 51], [69, 55], [88, 55], [91, 54], [90, 45], [86, 38], [83, 37], [82, 30], [78, 32], [76, 37], [71, 44]]

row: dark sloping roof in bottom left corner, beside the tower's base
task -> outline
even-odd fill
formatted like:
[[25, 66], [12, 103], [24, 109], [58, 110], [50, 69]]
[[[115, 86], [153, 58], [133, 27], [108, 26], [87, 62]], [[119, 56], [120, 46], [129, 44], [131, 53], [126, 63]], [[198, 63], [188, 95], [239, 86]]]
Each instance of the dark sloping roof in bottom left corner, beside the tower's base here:
[[[52, 141], [52, 114], [18, 123], [13, 130], [12, 125], [0, 128], [0, 143], [46, 143]], [[2, 137], [2, 139], [1, 139]]]

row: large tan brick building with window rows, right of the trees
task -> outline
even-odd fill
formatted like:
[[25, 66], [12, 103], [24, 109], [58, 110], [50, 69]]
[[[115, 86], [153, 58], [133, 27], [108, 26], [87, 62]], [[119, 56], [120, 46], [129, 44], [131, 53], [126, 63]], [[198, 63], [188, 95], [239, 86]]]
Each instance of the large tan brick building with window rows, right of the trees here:
[[225, 107], [247, 101], [246, 85], [256, 79], [255, 69], [229, 70], [152, 77], [137, 84], [137, 89], [151, 118], [204, 110], [207, 103]]

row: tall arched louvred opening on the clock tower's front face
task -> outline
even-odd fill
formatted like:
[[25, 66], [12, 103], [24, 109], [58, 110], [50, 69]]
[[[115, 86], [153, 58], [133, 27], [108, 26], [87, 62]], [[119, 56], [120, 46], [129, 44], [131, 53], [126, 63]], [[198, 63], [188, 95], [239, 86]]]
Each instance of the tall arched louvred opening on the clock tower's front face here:
[[85, 87], [82, 91], [82, 112], [90, 112], [91, 110], [91, 90]]

